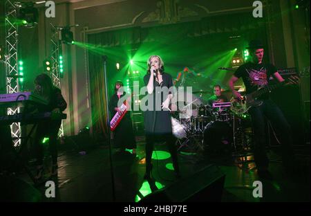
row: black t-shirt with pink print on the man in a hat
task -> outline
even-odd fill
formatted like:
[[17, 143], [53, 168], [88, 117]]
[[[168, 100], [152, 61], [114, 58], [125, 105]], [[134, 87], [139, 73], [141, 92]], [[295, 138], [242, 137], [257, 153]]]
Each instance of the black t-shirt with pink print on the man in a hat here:
[[247, 93], [256, 91], [269, 83], [270, 76], [277, 72], [273, 64], [254, 64], [248, 62], [238, 67], [234, 76], [242, 78]]

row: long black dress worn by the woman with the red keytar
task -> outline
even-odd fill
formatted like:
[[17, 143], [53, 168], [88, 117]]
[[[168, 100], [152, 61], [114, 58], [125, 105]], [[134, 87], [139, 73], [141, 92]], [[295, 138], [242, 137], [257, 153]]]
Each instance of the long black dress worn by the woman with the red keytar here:
[[[125, 92], [122, 96], [125, 95]], [[121, 97], [122, 97], [121, 96]], [[117, 93], [114, 93], [109, 101], [109, 109], [111, 112], [111, 119], [117, 111], [115, 111], [115, 107], [117, 107], [117, 102], [119, 101], [119, 97]], [[127, 111], [120, 121], [119, 125], [115, 128], [113, 132], [113, 143], [115, 148], [121, 148], [122, 150], [133, 149], [136, 148], [136, 141], [133, 132], [133, 124], [131, 120], [131, 113]]]

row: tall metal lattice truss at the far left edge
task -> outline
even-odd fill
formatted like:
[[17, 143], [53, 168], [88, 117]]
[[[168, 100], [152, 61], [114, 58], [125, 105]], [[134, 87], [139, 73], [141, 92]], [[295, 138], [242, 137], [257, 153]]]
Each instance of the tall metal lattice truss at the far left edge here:
[[[5, 12], [6, 12], [6, 48], [5, 48], [5, 70], [6, 70], [6, 92], [17, 93], [20, 91], [18, 76], [18, 26], [17, 20], [17, 7], [15, 1], [6, 0]], [[8, 108], [8, 115], [14, 115], [19, 113], [19, 107]], [[11, 135], [14, 141], [14, 145], [18, 146], [21, 144], [20, 134], [21, 125], [20, 123], [12, 123]]]

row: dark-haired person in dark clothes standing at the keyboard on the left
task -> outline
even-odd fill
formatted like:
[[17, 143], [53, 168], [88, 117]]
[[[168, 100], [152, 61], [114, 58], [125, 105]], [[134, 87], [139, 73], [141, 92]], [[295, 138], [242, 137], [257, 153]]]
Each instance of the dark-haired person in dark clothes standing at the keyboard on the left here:
[[[45, 98], [48, 102], [46, 106], [38, 107], [39, 112], [62, 113], [67, 107], [61, 90], [53, 85], [52, 79], [46, 73], [41, 73], [35, 78], [35, 93]], [[61, 124], [62, 120], [44, 120], [37, 123], [34, 140], [35, 156], [37, 158], [37, 174], [35, 179], [37, 180], [41, 179], [44, 173], [44, 148], [42, 145], [44, 137], [49, 138], [49, 150], [53, 162], [51, 176], [57, 176], [57, 134]]]

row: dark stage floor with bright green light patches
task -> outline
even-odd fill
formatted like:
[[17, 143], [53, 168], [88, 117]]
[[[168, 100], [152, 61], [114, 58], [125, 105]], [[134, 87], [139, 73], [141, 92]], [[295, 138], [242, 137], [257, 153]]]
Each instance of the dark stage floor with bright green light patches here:
[[[276, 151], [277, 152], [277, 151]], [[143, 179], [145, 170], [144, 142], [138, 143], [137, 156], [130, 152], [115, 152], [112, 150], [111, 160], [108, 146], [97, 146], [91, 150], [79, 153], [76, 150], [60, 151], [59, 172], [57, 179], [51, 179], [56, 184], [55, 198], [46, 198], [44, 183], [37, 186], [41, 195], [38, 201], [126, 201], [135, 202], [151, 193], [149, 183]], [[232, 157], [203, 156], [179, 152], [181, 179], [177, 179], [171, 170], [171, 159], [167, 147], [156, 145], [153, 153], [153, 179], [157, 188], [170, 186], [182, 179], [189, 178], [202, 168], [214, 164], [225, 174], [225, 185], [221, 201], [224, 202], [261, 202], [261, 201], [310, 201], [310, 155], [298, 156], [303, 163], [302, 176], [290, 178], [282, 169], [280, 158], [270, 151], [270, 172], [273, 180], [258, 178], [252, 156]], [[243, 161], [244, 160], [244, 161]], [[111, 172], [110, 161], [113, 161]], [[115, 179], [111, 181], [112, 175]], [[17, 178], [33, 185], [26, 174], [17, 174]], [[263, 183], [263, 197], [253, 196], [254, 181]], [[208, 182], [207, 182], [208, 183]], [[115, 188], [113, 196], [113, 186]], [[186, 187], [191, 187], [187, 181]], [[182, 188], [180, 188], [182, 190]], [[28, 198], [24, 197], [23, 200]], [[33, 197], [29, 197], [32, 200]]]

